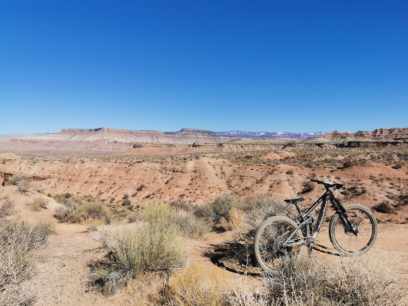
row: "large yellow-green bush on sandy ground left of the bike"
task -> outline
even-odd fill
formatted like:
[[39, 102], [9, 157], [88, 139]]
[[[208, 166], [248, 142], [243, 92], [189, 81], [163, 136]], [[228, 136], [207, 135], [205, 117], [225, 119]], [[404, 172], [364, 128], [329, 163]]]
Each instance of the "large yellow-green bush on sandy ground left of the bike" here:
[[99, 241], [109, 251], [109, 262], [94, 267], [95, 283], [108, 294], [144, 272], [180, 270], [187, 260], [185, 240], [172, 223], [106, 228]]

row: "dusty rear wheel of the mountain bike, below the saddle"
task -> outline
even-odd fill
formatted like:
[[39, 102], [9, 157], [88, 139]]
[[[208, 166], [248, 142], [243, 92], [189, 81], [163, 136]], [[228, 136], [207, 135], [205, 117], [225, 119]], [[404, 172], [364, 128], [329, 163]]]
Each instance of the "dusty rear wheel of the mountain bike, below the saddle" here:
[[[279, 258], [297, 256], [303, 246], [283, 247], [283, 243], [296, 230], [297, 224], [284, 216], [266, 219], [258, 228], [254, 241], [254, 252], [260, 268], [272, 272], [278, 264]], [[291, 240], [302, 239], [300, 230]]]

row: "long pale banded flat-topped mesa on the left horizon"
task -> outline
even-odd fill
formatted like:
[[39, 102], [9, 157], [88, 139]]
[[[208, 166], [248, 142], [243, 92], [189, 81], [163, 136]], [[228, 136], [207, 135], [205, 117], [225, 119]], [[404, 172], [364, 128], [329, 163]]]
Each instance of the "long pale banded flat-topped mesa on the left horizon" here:
[[123, 129], [63, 129], [59, 133], [38, 137], [9, 139], [0, 144], [0, 151], [20, 154], [114, 154], [133, 148], [134, 144], [220, 143], [231, 138], [212, 131], [183, 129], [179, 132], [131, 131]]

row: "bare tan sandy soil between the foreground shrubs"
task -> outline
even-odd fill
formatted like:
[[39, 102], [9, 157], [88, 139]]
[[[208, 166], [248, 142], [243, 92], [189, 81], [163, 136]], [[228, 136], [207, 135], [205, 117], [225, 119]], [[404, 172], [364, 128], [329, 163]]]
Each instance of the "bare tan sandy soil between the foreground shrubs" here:
[[[29, 221], [39, 219], [52, 220], [53, 211], [59, 206], [53, 199], [36, 192], [27, 195], [17, 193], [14, 186], [0, 187], [0, 198], [13, 198], [16, 203], [16, 215]], [[48, 200], [47, 209], [33, 212], [27, 203], [35, 197]], [[114, 295], [105, 296], [91, 285], [91, 269], [89, 265], [105, 256], [105, 251], [95, 240], [96, 232], [89, 230], [89, 225], [57, 223], [56, 233], [49, 239], [48, 245], [38, 254], [39, 263], [31, 279], [36, 305], [144, 305], [148, 304], [148, 294], [160, 283], [160, 279], [150, 279], [149, 282], [134, 282]], [[378, 237], [371, 253], [378, 261], [393, 263], [396, 272], [402, 277], [401, 282], [408, 281], [408, 230], [407, 224], [381, 223]], [[231, 232], [211, 233], [201, 241], [190, 240], [189, 261], [200, 265], [213, 267], [214, 263], [206, 256], [217, 245], [231, 237]], [[318, 258], [338, 258], [335, 249], [328, 239], [327, 227], [323, 228], [317, 239], [314, 255]], [[323, 247], [327, 248], [324, 249]], [[219, 267], [219, 269], [223, 269]], [[230, 272], [225, 269], [225, 275], [232, 286], [249, 284], [255, 291], [262, 287], [262, 277], [257, 273], [250, 276]]]

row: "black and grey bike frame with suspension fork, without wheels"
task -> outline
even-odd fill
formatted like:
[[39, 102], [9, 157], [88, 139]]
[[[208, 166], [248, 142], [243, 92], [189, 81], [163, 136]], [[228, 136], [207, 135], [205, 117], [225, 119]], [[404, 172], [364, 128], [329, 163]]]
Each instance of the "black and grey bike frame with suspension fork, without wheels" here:
[[[321, 226], [323, 224], [323, 218], [326, 215], [328, 201], [331, 202], [331, 204], [334, 206], [336, 210], [336, 213], [339, 214], [340, 216], [339, 219], [343, 223], [344, 231], [352, 232], [355, 236], [357, 236], [358, 231], [354, 228], [354, 225], [352, 224], [350, 218], [347, 216], [347, 213], [344, 207], [341, 205], [340, 200], [335, 197], [335, 195], [329, 188], [326, 188], [326, 192], [323, 193], [323, 195], [304, 214], [300, 211], [297, 203], [294, 203], [299, 213], [299, 216], [300, 216], [300, 224], [296, 227], [296, 229], [288, 237], [288, 239], [283, 243], [282, 246], [283, 247], [293, 247], [293, 246], [304, 245], [307, 243], [308, 239], [313, 239], [313, 240], [316, 239], [320, 233]], [[322, 206], [320, 208], [317, 224], [316, 224], [314, 231], [311, 233], [313, 217], [311, 217], [310, 215], [312, 214], [313, 210], [319, 206], [320, 203], [322, 203]], [[292, 239], [293, 236], [296, 235], [297, 231], [300, 230], [300, 228], [302, 227], [305, 228], [306, 236], [302, 238]]]

